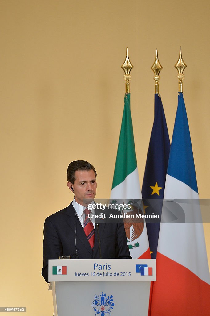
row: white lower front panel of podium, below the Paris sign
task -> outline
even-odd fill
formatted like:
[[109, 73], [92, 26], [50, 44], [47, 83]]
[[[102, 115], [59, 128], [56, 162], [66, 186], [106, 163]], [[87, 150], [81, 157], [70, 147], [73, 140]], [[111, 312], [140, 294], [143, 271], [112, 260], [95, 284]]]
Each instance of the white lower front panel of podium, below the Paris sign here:
[[[101, 316], [102, 313], [148, 316], [149, 290], [149, 281], [143, 286], [138, 282], [55, 282], [57, 303], [53, 301], [54, 313], [55, 316]], [[95, 295], [99, 298], [98, 303], [94, 302]], [[113, 309], [107, 301], [101, 302], [101, 295], [106, 295], [105, 298], [113, 296]]]

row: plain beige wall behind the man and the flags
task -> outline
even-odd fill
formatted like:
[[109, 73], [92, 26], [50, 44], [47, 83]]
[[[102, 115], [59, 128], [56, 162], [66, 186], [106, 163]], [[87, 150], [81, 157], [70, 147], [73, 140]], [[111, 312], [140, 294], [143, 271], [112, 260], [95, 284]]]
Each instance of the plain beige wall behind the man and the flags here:
[[1, 306], [26, 306], [30, 316], [53, 313], [40, 275], [43, 224], [72, 200], [68, 163], [90, 161], [98, 172], [97, 197], [109, 197], [126, 46], [134, 65], [131, 112], [141, 183], [153, 124], [155, 49], [171, 139], [181, 45], [198, 187], [201, 198], [210, 197], [209, 6], [207, 0], [0, 1]]

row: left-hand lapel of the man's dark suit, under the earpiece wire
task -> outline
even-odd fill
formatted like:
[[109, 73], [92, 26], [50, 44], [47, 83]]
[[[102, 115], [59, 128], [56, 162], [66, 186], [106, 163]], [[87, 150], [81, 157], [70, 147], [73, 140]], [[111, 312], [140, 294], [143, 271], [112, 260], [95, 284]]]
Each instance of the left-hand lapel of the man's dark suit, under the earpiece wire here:
[[[90, 252], [90, 254], [93, 254], [93, 251], [90, 247], [89, 241], [87, 240], [87, 237], [85, 235], [84, 229], [79, 221], [79, 218], [76, 214], [76, 211], [72, 205], [72, 203], [67, 207], [67, 223], [68, 225], [75, 231], [75, 225], [76, 225], [76, 234], [77, 237], [81, 240], [83, 245], [87, 248], [87, 250]], [[95, 238], [96, 240], [96, 238]]]

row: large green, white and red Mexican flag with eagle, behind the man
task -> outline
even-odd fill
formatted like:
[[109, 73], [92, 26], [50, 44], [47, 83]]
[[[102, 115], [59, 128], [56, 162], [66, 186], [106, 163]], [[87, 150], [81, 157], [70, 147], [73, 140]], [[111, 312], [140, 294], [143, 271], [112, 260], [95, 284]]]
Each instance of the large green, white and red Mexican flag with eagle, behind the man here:
[[[120, 130], [120, 139], [117, 149], [117, 158], [114, 168], [114, 178], [111, 191], [111, 203], [120, 204], [126, 200], [140, 200], [142, 193], [139, 183], [136, 150], [133, 137], [131, 119], [130, 93], [125, 94], [124, 111]], [[132, 209], [135, 212], [137, 209]], [[125, 232], [132, 258], [151, 258], [146, 224], [141, 229], [135, 225], [126, 225]], [[131, 241], [132, 240], [132, 241]]]

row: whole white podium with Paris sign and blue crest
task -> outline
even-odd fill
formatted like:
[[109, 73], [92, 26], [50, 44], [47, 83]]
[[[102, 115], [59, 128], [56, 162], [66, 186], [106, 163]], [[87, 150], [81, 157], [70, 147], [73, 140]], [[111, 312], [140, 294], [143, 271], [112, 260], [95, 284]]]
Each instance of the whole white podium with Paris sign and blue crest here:
[[155, 259], [49, 260], [55, 316], [148, 316]]

